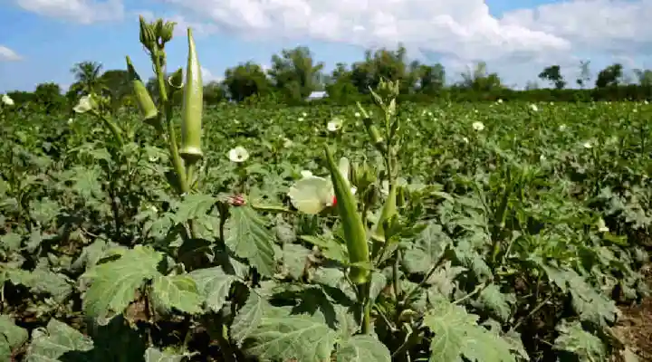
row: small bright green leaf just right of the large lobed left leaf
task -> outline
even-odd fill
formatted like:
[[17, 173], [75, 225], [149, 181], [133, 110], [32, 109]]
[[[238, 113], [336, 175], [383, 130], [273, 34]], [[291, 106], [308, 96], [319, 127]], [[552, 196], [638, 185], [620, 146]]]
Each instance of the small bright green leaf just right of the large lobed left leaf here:
[[189, 275], [158, 275], [152, 283], [152, 297], [158, 308], [191, 314], [200, 313], [204, 301]]

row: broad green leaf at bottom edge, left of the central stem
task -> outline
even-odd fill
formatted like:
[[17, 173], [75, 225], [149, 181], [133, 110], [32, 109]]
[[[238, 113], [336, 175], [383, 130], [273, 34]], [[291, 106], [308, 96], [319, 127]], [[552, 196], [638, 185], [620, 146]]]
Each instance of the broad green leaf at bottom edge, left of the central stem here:
[[244, 348], [259, 361], [328, 361], [337, 336], [335, 330], [311, 316], [264, 316], [245, 339]]

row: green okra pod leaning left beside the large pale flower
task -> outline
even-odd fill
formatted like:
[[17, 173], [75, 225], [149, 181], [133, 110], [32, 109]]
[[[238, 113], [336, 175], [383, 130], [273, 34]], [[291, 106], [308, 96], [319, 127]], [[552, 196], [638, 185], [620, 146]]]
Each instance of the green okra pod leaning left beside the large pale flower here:
[[[358, 214], [355, 198], [351, 192], [349, 182], [341, 174], [340, 169], [333, 160], [331, 150], [326, 146], [326, 159], [331, 170], [331, 180], [335, 197], [337, 198], [337, 210], [344, 229], [347, 249], [349, 251], [350, 280], [356, 284], [362, 284], [369, 278], [369, 245], [367, 244], [367, 232], [362, 218]], [[364, 264], [363, 267], [360, 265]]]

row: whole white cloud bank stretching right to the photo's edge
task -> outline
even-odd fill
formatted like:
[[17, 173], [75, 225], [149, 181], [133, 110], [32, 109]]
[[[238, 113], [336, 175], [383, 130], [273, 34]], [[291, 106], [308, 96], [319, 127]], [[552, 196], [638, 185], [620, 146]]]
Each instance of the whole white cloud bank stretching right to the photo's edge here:
[[574, 74], [587, 53], [636, 57], [652, 48], [652, 0], [568, 0], [499, 17], [484, 0], [163, 1], [214, 24], [212, 31], [246, 39], [309, 37], [363, 47], [400, 42], [409, 55], [436, 54], [457, 65], [483, 60], [490, 71], [523, 69], [526, 79], [551, 63]]

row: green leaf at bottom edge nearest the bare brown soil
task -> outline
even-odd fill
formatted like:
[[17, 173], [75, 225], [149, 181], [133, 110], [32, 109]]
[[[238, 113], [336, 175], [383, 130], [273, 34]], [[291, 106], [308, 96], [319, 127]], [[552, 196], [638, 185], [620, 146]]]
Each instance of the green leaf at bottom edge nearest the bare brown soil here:
[[607, 347], [600, 338], [582, 329], [579, 321], [563, 321], [557, 330], [560, 336], [555, 339], [554, 349], [573, 353], [581, 362], [607, 360]]

